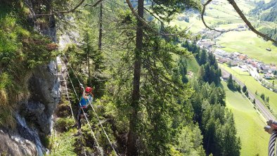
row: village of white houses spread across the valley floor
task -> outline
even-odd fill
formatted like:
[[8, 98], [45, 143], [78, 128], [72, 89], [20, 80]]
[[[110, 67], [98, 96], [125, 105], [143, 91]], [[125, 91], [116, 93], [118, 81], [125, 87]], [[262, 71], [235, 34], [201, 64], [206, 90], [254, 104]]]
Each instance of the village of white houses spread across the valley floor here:
[[[233, 31], [245, 30], [248, 30], [245, 25], [238, 25], [236, 29], [233, 29]], [[200, 39], [197, 45], [200, 46], [200, 48], [205, 48], [210, 53], [214, 53], [218, 63], [226, 63], [228, 67], [237, 67], [243, 72], [248, 72], [257, 82], [262, 84], [262, 86], [277, 92], [277, 87], [274, 85], [274, 82], [271, 83], [268, 81], [277, 78], [276, 64], [265, 64], [262, 61], [250, 58], [240, 52], [227, 53], [221, 49], [224, 48], [224, 46], [217, 44], [218, 38], [221, 36], [222, 32], [204, 29], [200, 33], [204, 39]], [[266, 51], [271, 51], [271, 49], [266, 48]], [[222, 78], [227, 79], [226, 77]]]

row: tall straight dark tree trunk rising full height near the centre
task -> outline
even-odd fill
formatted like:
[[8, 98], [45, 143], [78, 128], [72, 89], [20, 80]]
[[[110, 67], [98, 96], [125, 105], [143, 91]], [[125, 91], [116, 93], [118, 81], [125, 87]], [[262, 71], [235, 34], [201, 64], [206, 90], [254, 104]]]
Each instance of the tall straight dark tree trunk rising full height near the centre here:
[[[138, 14], [143, 18], [143, 1], [138, 1]], [[129, 122], [129, 134], [127, 143], [127, 155], [136, 156], [138, 150], [136, 147], [137, 140], [137, 122], [138, 122], [138, 110], [139, 110], [139, 98], [140, 98], [140, 79], [141, 79], [141, 48], [143, 44], [143, 23], [137, 19], [136, 24], [136, 49], [134, 51], [134, 81], [133, 81], [133, 93], [131, 94], [131, 116]]]

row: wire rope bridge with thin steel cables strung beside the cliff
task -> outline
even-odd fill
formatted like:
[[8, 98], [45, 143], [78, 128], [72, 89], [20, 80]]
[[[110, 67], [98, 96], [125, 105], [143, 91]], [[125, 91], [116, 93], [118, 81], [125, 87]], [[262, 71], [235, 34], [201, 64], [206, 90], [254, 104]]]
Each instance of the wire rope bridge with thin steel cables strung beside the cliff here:
[[[63, 56], [64, 56], [65, 60], [66, 60], [67, 63], [68, 63], [68, 60], [67, 60], [66, 56], [65, 56], [65, 55], [63, 55]], [[67, 77], [70, 79], [70, 84], [72, 85], [72, 89], [73, 89], [73, 91], [75, 92], [75, 96], [76, 96], [77, 99], [80, 101], [79, 96], [77, 95], [77, 91], [75, 90], [75, 86], [74, 86], [73, 83], [72, 83], [72, 79], [71, 79], [71, 77], [70, 77], [70, 74], [68, 73], [68, 70], [67, 70], [67, 67], [66, 67], [66, 65], [65, 65], [65, 62], [64, 62], [62, 59], [60, 59], [60, 61], [61, 61], [61, 63], [63, 64], [63, 66], [65, 67], [65, 72], [66, 72], [66, 74], [67, 74]], [[79, 84], [81, 84], [81, 82], [79, 81], [79, 79], [78, 79], [78, 77], [77, 77], [77, 74], [76, 74], [75, 71], [73, 70], [72, 66], [71, 66], [70, 64], [69, 64], [69, 66], [70, 66], [70, 69], [72, 70], [73, 74], [74, 74], [75, 77], [77, 78], [77, 81], [79, 82]], [[74, 117], [74, 114], [73, 114], [73, 111], [72, 111], [72, 105], [71, 105], [71, 103], [70, 103], [70, 98], [69, 98], [69, 96], [68, 96], [67, 82], [66, 82], [65, 77], [63, 77], [63, 79], [65, 80], [65, 90], [66, 90], [66, 94], [67, 94], [67, 100], [68, 100], [68, 102], [69, 102], [69, 104], [70, 104], [70, 110], [71, 110], [71, 113], [72, 113], [72, 118], [75, 120], [75, 117]], [[101, 121], [100, 121], [100, 119], [99, 119], [97, 113], [96, 113], [96, 111], [94, 110], [94, 107], [93, 107], [93, 105], [91, 104], [91, 102], [92, 102], [92, 101], [89, 100], [89, 105], [91, 105], [91, 108], [92, 108], [92, 110], [94, 111], [94, 114], [96, 115], [96, 118], [97, 118], [99, 124], [101, 125], [101, 128], [103, 129], [103, 132], [104, 132], [104, 134], [105, 134], [105, 137], [108, 139], [108, 142], [110, 143], [110, 146], [112, 147], [112, 150], [115, 152], [115, 155], [117, 155], [117, 152], [116, 152], [114, 146], [112, 145], [112, 143], [111, 143], [111, 141], [110, 141], [110, 138], [108, 137], [108, 134], [106, 133], [106, 131], [105, 131], [105, 129], [104, 129], [104, 127], [103, 127], [103, 125], [102, 125], [102, 123], [101, 123]], [[81, 103], [79, 103], [79, 105], [81, 106]], [[82, 106], [81, 106], [80, 108], [82, 109], [82, 112], [84, 112], [84, 109], [82, 108]], [[101, 155], [103, 155], [103, 150], [101, 149], [101, 147], [100, 147], [100, 145], [99, 145], [99, 143], [98, 143], [98, 141], [97, 141], [97, 139], [96, 139], [96, 136], [95, 136], [95, 134], [94, 134], [94, 131], [93, 131], [92, 128], [91, 128], [91, 124], [89, 123], [89, 119], [86, 117], [86, 113], [84, 113], [84, 117], [85, 117], [85, 119], [86, 119], [87, 124], [89, 125], [89, 129], [91, 130], [91, 134], [92, 134], [92, 136], [94, 137], [94, 140], [95, 140], [95, 143], [96, 143], [96, 148], [97, 148], [98, 152], [100, 152]], [[76, 121], [76, 120], [75, 120], [75, 121]], [[81, 134], [81, 136], [82, 136], [82, 134]], [[82, 145], [82, 143], [81, 143], [81, 145]], [[86, 155], [86, 152], [85, 152], [85, 151], [84, 151], [84, 155]]]

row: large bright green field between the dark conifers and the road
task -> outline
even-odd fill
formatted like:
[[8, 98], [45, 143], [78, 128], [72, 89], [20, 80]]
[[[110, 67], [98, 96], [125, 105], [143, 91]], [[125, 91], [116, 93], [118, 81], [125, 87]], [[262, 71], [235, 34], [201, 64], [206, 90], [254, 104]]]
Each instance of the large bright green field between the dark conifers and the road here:
[[250, 100], [241, 93], [230, 91], [226, 82], [222, 84], [226, 91], [227, 108], [233, 112], [238, 136], [241, 139], [240, 155], [266, 155], [270, 137], [263, 129], [266, 120], [253, 108]]

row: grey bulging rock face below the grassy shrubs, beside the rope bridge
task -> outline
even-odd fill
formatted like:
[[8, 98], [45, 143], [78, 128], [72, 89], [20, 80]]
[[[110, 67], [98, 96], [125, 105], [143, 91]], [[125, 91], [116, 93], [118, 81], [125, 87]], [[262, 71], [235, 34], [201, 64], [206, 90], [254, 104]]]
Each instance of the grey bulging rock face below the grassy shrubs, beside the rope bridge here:
[[60, 82], [56, 62], [38, 67], [30, 78], [32, 96], [22, 108], [23, 116], [39, 125], [44, 134], [51, 132], [51, 116], [60, 101]]

